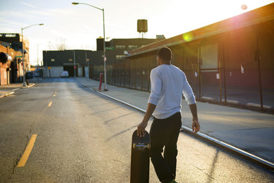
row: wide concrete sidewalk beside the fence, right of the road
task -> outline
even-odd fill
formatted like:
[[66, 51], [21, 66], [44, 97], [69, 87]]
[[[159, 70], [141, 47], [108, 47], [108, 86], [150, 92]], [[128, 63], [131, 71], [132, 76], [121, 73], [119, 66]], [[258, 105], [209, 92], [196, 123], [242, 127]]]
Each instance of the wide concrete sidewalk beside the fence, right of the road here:
[[[77, 77], [81, 84], [98, 90], [99, 82]], [[108, 85], [104, 91], [116, 99], [126, 101], [143, 110], [147, 109], [149, 93]], [[274, 162], [274, 115], [197, 102], [201, 132], [238, 147], [264, 160]], [[136, 121], [136, 124], [138, 121]], [[192, 115], [186, 101], [182, 101], [182, 125], [191, 127]]]

